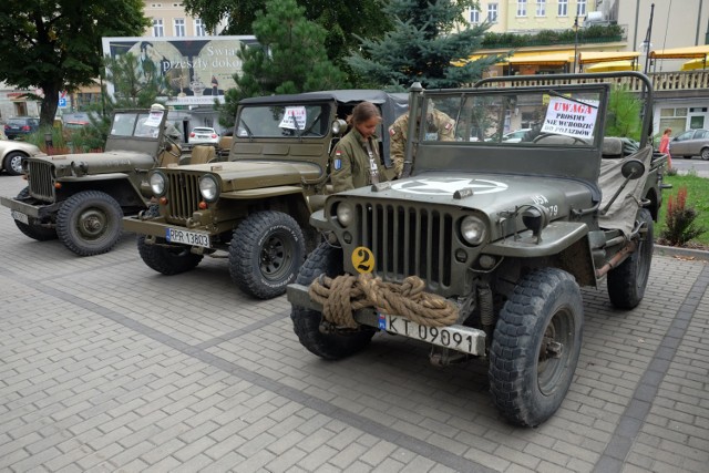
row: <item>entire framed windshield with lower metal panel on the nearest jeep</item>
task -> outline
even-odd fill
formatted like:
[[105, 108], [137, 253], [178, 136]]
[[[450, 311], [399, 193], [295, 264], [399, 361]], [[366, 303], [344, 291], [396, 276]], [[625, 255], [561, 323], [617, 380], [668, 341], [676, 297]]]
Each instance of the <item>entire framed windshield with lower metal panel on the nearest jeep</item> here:
[[[425, 117], [425, 125], [418, 135], [418, 146], [407, 151], [413, 156], [411, 172], [524, 174], [595, 182], [609, 90], [607, 83], [594, 83], [425, 91], [417, 113]], [[454, 141], [441, 140], [436, 123], [452, 123]]]

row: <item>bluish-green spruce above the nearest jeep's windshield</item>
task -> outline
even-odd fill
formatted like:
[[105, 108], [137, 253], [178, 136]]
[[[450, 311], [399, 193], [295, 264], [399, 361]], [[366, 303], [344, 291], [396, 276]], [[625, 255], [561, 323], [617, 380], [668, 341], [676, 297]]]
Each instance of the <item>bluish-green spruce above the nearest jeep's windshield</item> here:
[[451, 61], [470, 56], [490, 28], [466, 25], [464, 12], [476, 6], [474, 0], [391, 0], [383, 14], [393, 18], [393, 30], [381, 40], [359, 38], [362, 52], [347, 61], [371, 86], [408, 88], [419, 81], [424, 88], [458, 88], [474, 82], [496, 55], [462, 66]]

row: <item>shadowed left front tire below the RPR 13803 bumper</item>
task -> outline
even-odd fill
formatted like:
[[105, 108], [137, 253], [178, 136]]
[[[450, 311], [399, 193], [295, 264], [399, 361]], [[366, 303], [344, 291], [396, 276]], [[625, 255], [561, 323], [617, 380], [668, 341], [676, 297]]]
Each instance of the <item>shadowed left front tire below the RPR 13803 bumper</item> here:
[[[145, 212], [146, 217], [157, 217], [156, 205]], [[145, 243], [145, 235], [137, 236], [137, 253], [148, 268], [165, 276], [178, 275], [194, 269], [202, 261], [203, 255], [195, 255], [185, 245], [169, 245], [165, 238], [156, 238], [153, 245]]]

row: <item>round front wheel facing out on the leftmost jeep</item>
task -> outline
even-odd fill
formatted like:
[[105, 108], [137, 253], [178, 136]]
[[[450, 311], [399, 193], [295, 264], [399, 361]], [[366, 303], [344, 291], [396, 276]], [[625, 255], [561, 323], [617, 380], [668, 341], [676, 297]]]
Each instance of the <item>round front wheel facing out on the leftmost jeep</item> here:
[[110, 251], [121, 238], [123, 210], [109, 194], [84, 191], [69, 197], [56, 215], [56, 234], [79, 256]]

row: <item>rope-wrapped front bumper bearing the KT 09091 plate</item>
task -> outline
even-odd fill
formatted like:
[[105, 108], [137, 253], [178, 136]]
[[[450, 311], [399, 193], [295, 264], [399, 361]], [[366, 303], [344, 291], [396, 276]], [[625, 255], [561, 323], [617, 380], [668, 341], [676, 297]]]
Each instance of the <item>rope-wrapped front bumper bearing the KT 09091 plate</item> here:
[[[322, 312], [322, 306], [308, 296], [307, 286], [291, 284], [286, 294], [292, 306]], [[421, 340], [476, 357], [485, 356], [485, 332], [472, 327], [458, 323], [446, 327], [427, 327], [398, 315], [381, 313], [373, 308], [359, 309], [353, 313], [353, 317], [362, 326], [373, 327], [392, 335]]]

